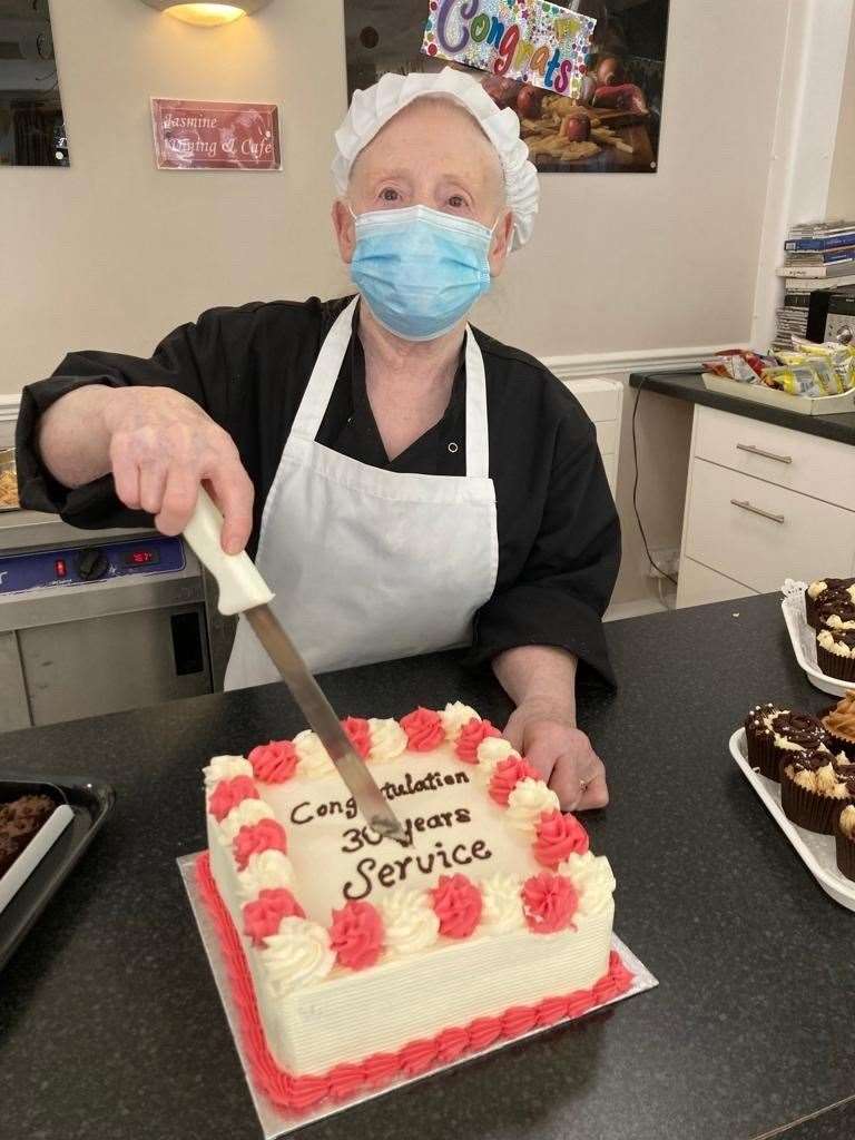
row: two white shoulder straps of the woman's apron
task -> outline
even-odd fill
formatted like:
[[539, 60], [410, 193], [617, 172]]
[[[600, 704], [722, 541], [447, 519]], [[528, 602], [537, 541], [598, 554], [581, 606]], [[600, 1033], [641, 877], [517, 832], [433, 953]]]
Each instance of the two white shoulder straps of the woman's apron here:
[[[350, 345], [359, 296], [345, 306], [320, 345], [309, 383], [298, 408], [292, 433], [315, 440], [339, 378], [342, 361]], [[489, 474], [489, 437], [487, 431], [487, 381], [483, 358], [472, 329], [466, 325], [466, 475], [487, 479]]]

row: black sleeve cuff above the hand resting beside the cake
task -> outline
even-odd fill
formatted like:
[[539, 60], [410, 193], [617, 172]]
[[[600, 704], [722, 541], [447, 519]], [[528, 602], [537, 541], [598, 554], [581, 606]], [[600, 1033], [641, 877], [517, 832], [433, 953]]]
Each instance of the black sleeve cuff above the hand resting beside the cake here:
[[600, 614], [564, 589], [520, 584], [497, 594], [475, 616], [467, 663], [480, 666], [518, 645], [552, 645], [617, 689]]

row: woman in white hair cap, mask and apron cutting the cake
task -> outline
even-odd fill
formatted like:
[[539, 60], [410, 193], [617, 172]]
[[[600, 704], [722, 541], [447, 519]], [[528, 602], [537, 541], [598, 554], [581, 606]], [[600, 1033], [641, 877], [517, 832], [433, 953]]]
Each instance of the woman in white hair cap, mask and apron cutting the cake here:
[[[148, 360], [67, 356], [24, 393], [23, 496], [176, 535], [204, 481], [223, 548], [249, 544], [311, 668], [471, 644], [564, 807], [602, 806], [575, 703], [578, 661], [611, 679], [619, 530], [594, 427], [537, 360], [466, 324], [537, 209], [516, 117], [462, 73], [390, 74], [336, 141], [358, 294], [213, 309]], [[275, 677], [242, 622], [227, 687]]]

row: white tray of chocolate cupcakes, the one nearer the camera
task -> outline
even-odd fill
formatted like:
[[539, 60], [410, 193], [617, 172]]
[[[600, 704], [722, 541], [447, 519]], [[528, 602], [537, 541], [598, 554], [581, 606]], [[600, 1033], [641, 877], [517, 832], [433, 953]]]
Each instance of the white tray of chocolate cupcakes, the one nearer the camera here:
[[822, 889], [855, 911], [855, 690], [819, 716], [758, 705], [730, 743]]

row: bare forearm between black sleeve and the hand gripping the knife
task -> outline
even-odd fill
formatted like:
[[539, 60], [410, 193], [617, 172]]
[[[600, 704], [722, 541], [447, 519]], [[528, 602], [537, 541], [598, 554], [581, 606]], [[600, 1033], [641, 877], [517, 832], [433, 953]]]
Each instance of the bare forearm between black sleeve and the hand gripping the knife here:
[[104, 412], [115, 394], [105, 384], [67, 392], [42, 415], [38, 447], [42, 463], [64, 487], [82, 487], [109, 471]]

